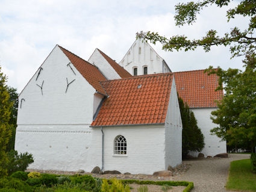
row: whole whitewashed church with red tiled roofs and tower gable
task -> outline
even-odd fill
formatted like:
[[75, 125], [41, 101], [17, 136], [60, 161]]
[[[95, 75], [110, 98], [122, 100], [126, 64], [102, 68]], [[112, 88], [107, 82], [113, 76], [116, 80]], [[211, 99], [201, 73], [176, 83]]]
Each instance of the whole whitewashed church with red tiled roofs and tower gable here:
[[172, 73], [139, 40], [120, 65], [99, 49], [86, 61], [57, 45], [19, 95], [15, 149], [33, 154], [30, 169], [152, 174], [178, 166], [179, 94], [204, 133], [202, 152], [223, 153], [225, 142], [209, 132], [216, 86], [203, 70]]

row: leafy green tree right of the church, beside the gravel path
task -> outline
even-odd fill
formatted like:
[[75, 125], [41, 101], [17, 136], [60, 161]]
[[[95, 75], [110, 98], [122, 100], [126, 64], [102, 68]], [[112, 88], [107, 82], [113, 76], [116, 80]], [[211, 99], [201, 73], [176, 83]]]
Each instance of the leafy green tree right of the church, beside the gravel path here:
[[[256, 57], [246, 55], [245, 72], [238, 69], [212, 70], [219, 78], [217, 90], [225, 90], [225, 96], [219, 101], [218, 109], [213, 111], [211, 119], [218, 124], [211, 130], [229, 146], [245, 148], [250, 146], [252, 151], [256, 146]], [[222, 84], [225, 86], [222, 87]]]

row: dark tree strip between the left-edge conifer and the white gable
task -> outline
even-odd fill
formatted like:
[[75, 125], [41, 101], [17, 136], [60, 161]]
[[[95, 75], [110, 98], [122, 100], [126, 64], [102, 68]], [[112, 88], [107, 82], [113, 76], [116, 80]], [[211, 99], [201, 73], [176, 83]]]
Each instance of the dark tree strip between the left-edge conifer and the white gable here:
[[10, 99], [9, 101], [13, 103], [11, 107], [11, 114], [10, 114], [10, 131], [11, 131], [11, 137], [10, 140], [7, 144], [6, 151], [10, 151], [14, 149], [14, 144], [15, 144], [15, 135], [16, 135], [16, 127], [17, 127], [17, 110], [18, 110], [18, 105], [19, 105], [19, 100], [18, 96], [19, 94], [17, 93], [17, 89], [13, 87], [7, 87], [7, 91], [10, 94]]

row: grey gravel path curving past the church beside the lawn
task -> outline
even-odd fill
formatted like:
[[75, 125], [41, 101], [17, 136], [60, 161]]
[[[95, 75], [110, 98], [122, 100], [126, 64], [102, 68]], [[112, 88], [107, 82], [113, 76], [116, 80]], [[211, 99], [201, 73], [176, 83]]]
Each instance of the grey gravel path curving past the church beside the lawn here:
[[[231, 161], [248, 159], [247, 154], [228, 154], [228, 158], [207, 158], [183, 161], [192, 166], [182, 175], [173, 178], [174, 181], [192, 181], [192, 192], [222, 192], [225, 190], [228, 169]], [[233, 191], [234, 192], [234, 191]]]

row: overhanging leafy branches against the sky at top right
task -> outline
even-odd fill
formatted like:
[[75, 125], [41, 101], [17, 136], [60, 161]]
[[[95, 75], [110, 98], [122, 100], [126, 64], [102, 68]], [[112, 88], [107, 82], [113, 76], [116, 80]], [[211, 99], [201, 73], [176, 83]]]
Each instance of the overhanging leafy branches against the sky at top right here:
[[[196, 14], [198, 14], [202, 8], [208, 7], [208, 5], [216, 4], [218, 7], [228, 5], [230, 0], [204, 0], [199, 2], [187, 2], [179, 3], [175, 5], [175, 21], [176, 25], [183, 26], [188, 23], [192, 25], [196, 21]], [[237, 15], [243, 17], [249, 17], [248, 28], [241, 31], [239, 28], [234, 27], [230, 32], [220, 37], [217, 35], [217, 31], [211, 29], [207, 32], [202, 39], [189, 40], [186, 36], [172, 36], [170, 39], [164, 36], [160, 36], [158, 33], [151, 31], [137, 33], [137, 38], [149, 40], [152, 43], [160, 42], [162, 48], [166, 51], [184, 51], [195, 50], [199, 46], [203, 47], [205, 52], [210, 51], [211, 46], [229, 46], [232, 57], [240, 55], [251, 55], [255, 52], [256, 37], [254, 36], [254, 30], [256, 26], [256, 2], [255, 0], [243, 0], [235, 8], [231, 8], [227, 11], [226, 17], [228, 22], [230, 19], [234, 19]]]

